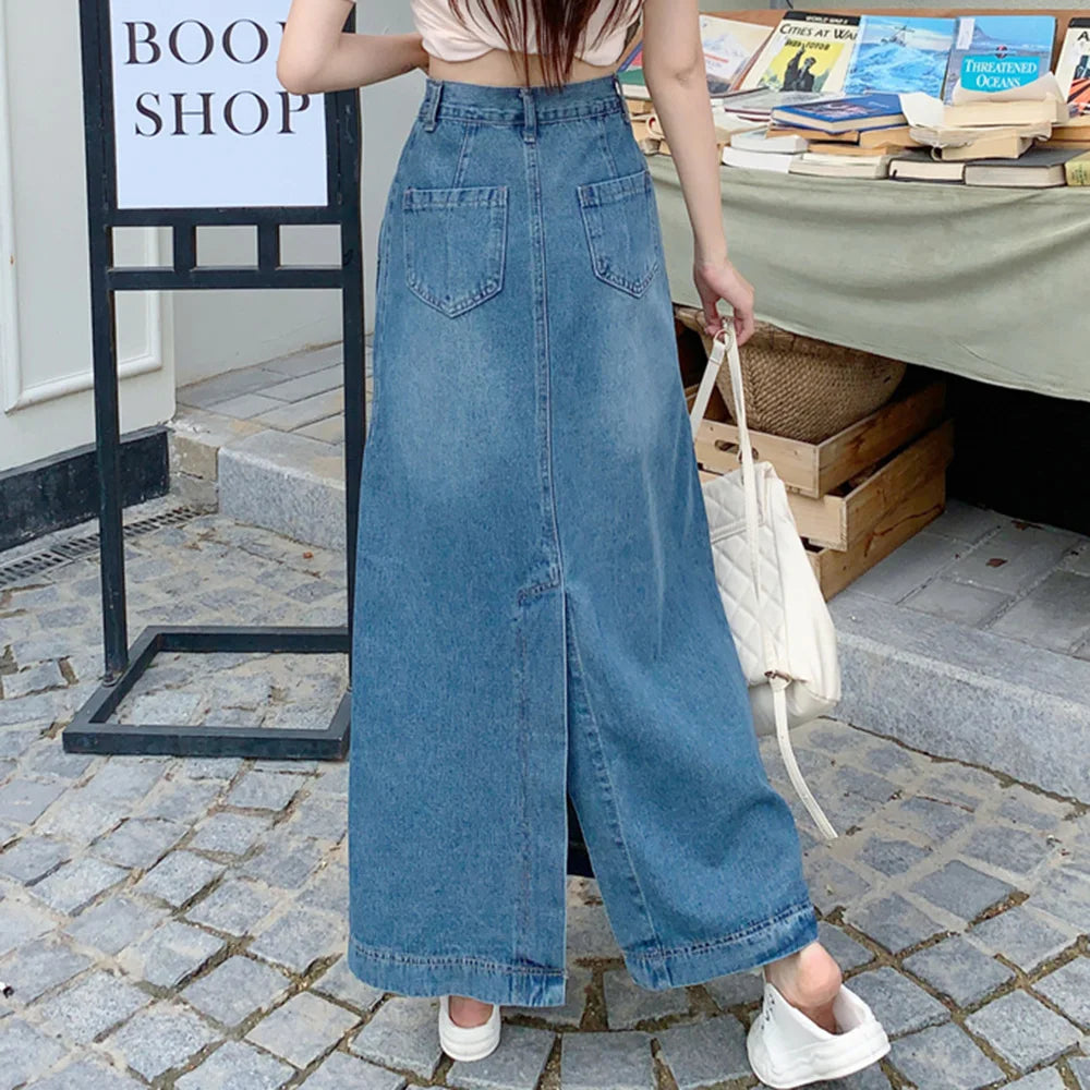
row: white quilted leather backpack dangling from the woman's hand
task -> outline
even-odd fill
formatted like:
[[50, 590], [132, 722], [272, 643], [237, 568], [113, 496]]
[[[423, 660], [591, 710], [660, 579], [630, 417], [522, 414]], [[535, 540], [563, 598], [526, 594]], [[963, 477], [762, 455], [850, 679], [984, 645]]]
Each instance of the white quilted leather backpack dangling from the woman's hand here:
[[807, 559], [784, 482], [772, 462], [753, 461], [734, 322], [716, 332], [690, 413], [693, 439], [723, 356], [730, 366], [741, 467], [702, 485], [715, 579], [759, 735], [775, 731], [791, 785], [828, 839], [836, 836], [799, 771], [788, 728], [823, 715], [840, 700], [836, 630]]

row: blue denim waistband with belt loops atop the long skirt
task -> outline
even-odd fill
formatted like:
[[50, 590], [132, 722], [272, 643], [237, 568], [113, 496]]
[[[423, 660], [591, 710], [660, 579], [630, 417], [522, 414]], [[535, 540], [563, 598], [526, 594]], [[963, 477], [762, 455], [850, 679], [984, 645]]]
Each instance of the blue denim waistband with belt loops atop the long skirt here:
[[494, 85], [463, 80], [435, 80], [425, 73], [421, 121], [460, 118], [491, 124], [525, 125], [598, 117], [627, 109], [615, 73], [579, 80], [560, 87]]

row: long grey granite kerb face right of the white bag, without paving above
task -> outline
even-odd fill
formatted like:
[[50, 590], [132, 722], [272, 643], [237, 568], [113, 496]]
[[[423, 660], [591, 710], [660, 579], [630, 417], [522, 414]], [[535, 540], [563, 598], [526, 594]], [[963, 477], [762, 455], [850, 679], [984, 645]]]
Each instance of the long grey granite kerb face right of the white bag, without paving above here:
[[848, 588], [837, 718], [1090, 802], [1090, 662]]

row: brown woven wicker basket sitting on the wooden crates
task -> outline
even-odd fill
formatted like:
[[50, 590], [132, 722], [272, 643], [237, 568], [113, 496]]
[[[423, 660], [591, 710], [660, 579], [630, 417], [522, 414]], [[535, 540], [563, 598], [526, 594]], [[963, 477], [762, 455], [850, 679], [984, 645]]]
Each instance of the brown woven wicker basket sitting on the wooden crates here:
[[[712, 338], [700, 329], [704, 348]], [[756, 432], [821, 443], [881, 408], [905, 377], [907, 364], [831, 344], [758, 322], [739, 353], [746, 385], [746, 420]], [[730, 373], [716, 383], [734, 417]]]

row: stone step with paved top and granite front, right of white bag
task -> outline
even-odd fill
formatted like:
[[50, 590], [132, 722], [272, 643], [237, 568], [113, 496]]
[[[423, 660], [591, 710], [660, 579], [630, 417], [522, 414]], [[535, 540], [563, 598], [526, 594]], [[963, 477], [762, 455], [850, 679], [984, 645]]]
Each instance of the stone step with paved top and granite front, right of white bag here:
[[1090, 801], [1090, 542], [958, 499], [829, 603], [836, 712]]

